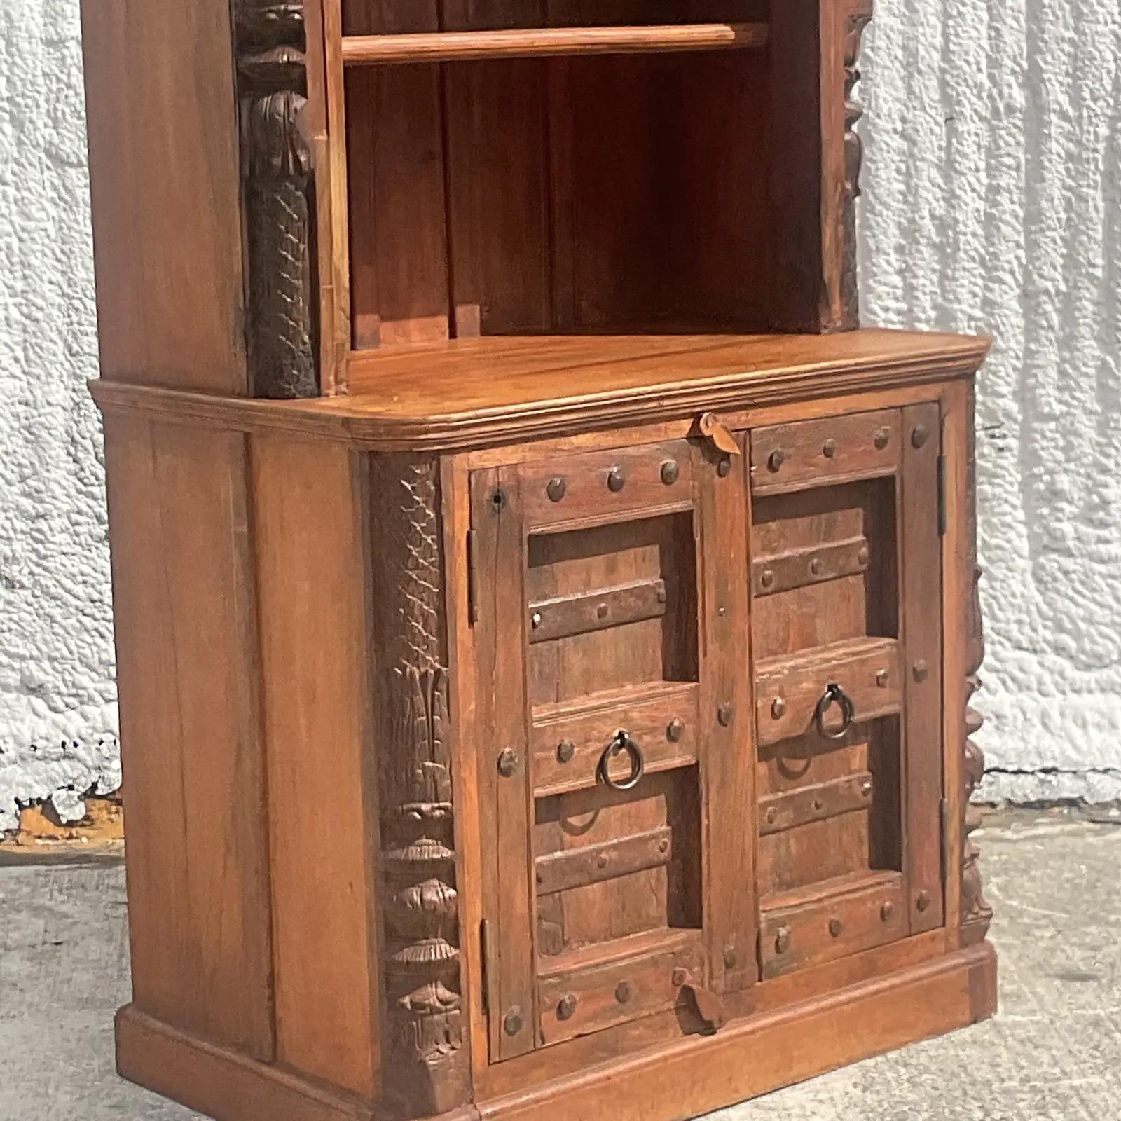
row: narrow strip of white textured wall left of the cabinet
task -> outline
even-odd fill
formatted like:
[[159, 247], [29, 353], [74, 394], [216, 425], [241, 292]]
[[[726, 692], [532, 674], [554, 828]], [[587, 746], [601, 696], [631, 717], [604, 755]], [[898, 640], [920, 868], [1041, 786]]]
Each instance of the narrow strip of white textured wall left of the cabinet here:
[[0, 0], [0, 828], [119, 781], [81, 67], [76, 0]]

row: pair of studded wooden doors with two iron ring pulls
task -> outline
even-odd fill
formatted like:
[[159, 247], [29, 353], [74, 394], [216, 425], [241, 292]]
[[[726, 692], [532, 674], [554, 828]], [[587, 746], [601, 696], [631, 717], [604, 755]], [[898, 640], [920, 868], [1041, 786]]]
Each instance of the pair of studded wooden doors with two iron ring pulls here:
[[938, 927], [937, 404], [471, 473], [490, 1062]]

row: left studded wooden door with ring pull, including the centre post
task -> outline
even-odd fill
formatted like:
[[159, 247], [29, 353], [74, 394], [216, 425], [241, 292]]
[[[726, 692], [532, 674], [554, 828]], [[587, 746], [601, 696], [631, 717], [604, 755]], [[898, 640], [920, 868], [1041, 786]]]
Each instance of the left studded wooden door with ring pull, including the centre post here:
[[757, 976], [743, 463], [472, 475], [492, 1062]]

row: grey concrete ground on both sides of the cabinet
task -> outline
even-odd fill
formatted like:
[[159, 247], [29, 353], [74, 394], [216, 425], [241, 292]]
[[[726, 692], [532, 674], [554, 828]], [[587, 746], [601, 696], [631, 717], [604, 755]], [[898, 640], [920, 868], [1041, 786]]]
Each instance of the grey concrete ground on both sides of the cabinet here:
[[[999, 1016], [708, 1121], [1121, 1119], [1121, 817], [1016, 812], [976, 836]], [[198, 1118], [113, 1072], [129, 993], [119, 862], [0, 865], [0, 1121]]]

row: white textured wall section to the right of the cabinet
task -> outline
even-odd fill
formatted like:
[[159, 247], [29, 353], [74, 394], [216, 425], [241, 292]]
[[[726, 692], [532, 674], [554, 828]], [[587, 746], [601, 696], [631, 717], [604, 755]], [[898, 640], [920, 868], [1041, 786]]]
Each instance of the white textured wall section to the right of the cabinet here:
[[1121, 797], [1121, 7], [879, 0], [872, 28], [867, 319], [997, 340], [984, 789]]

